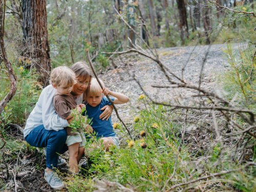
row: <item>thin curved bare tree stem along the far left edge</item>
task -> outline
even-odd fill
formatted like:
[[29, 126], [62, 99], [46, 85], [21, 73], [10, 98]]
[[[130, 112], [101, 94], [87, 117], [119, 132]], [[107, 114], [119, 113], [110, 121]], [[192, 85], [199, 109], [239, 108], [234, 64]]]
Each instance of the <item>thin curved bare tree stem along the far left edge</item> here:
[[17, 91], [17, 79], [14, 75], [12, 65], [7, 57], [7, 53], [5, 50], [5, 43], [4, 43], [4, 33], [3, 33], [3, 1], [0, 0], [0, 48], [2, 52], [2, 59], [5, 62], [5, 66], [8, 70], [8, 75], [11, 80], [11, 90], [10, 92], [5, 96], [5, 98], [0, 102], [0, 115], [4, 111], [6, 104], [13, 98]]

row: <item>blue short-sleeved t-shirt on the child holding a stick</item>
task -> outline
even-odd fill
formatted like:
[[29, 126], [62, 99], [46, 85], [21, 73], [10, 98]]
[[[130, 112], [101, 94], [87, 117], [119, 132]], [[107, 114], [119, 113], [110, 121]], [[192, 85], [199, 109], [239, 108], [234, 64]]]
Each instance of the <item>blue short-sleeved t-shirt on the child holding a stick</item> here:
[[[111, 98], [111, 100], [114, 101], [115, 98]], [[100, 109], [107, 104], [111, 105], [111, 102], [106, 97], [102, 97], [100, 104], [97, 106], [93, 107], [88, 103], [86, 104], [86, 111], [87, 111], [86, 114], [90, 119], [93, 118], [92, 119], [93, 123], [91, 126], [93, 127], [93, 130], [95, 131], [98, 137], [115, 137], [116, 136], [116, 133], [113, 131], [111, 116], [108, 121], [106, 121], [106, 119], [104, 119], [103, 121], [102, 119], [99, 119], [99, 116], [101, 115], [101, 113], [104, 112], [104, 110], [100, 110]]]

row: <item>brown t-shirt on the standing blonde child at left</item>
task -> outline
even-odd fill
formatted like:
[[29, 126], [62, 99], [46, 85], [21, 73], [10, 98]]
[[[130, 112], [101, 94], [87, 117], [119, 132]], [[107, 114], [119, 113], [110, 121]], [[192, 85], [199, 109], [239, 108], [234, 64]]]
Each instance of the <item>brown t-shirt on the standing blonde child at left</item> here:
[[[53, 106], [56, 113], [61, 119], [66, 119], [71, 114], [71, 109], [76, 108], [75, 97], [70, 93], [69, 95], [55, 94], [53, 96]], [[77, 133], [71, 133], [72, 128], [67, 126], [64, 128], [67, 131], [67, 135], [76, 135]]]

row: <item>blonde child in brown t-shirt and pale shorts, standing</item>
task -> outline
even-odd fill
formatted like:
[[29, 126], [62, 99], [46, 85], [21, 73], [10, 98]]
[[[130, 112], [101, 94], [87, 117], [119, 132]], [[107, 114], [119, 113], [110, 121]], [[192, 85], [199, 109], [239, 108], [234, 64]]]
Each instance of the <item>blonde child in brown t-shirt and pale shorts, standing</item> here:
[[[71, 94], [73, 84], [76, 83], [75, 73], [66, 66], [55, 68], [51, 73], [52, 86], [57, 90], [53, 96], [53, 106], [56, 113], [62, 119], [70, 119], [71, 109], [77, 108], [82, 112], [79, 105], [76, 105], [74, 96]], [[66, 144], [69, 147], [70, 170], [74, 174], [79, 173], [78, 162], [84, 154], [84, 142], [86, 138], [84, 133], [72, 133], [71, 127], [65, 127], [67, 131]]]

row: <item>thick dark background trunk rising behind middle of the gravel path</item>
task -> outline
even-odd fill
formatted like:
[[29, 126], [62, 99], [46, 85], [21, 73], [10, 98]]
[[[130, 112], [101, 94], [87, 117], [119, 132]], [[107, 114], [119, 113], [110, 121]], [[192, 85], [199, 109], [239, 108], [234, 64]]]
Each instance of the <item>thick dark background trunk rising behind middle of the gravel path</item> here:
[[187, 26], [187, 12], [185, 7], [185, 1], [184, 0], [176, 0], [178, 9], [179, 9], [179, 15], [180, 15], [180, 37], [181, 41], [184, 43], [184, 34], [186, 37], [188, 37], [188, 26]]

